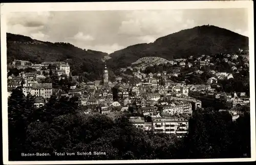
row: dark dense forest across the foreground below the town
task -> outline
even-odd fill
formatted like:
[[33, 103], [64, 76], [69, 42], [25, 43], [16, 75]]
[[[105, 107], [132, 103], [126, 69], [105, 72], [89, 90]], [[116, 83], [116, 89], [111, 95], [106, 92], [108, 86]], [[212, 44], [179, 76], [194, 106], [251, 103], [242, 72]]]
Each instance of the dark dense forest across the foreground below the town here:
[[[17, 88], [8, 99], [9, 160], [117, 160], [250, 157], [250, 116], [232, 122], [228, 112], [197, 109], [186, 137], [145, 133], [126, 117], [84, 114], [77, 98], [57, 98], [35, 110]], [[17, 132], [19, 132], [17, 134]], [[50, 156], [21, 156], [21, 153]], [[105, 152], [55, 156], [55, 152]]]

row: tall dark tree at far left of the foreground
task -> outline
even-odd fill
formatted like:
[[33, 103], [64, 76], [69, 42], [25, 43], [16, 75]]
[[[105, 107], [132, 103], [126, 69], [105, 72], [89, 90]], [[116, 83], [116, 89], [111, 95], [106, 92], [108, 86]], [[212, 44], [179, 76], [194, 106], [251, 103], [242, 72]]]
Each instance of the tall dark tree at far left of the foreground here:
[[[34, 98], [24, 96], [20, 88], [12, 90], [8, 99], [8, 142], [10, 159], [25, 150], [26, 129], [33, 121]], [[17, 132], [19, 132], [17, 134]]]

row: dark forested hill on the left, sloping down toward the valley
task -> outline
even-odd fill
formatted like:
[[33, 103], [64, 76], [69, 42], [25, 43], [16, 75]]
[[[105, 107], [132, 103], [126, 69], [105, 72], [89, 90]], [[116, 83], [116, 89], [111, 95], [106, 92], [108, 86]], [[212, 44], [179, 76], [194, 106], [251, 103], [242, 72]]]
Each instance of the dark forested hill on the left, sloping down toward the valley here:
[[7, 61], [28, 60], [32, 63], [44, 61], [66, 61], [78, 73], [94, 72], [99, 75], [104, 68], [101, 58], [107, 53], [83, 50], [70, 43], [44, 42], [23, 35], [7, 33]]

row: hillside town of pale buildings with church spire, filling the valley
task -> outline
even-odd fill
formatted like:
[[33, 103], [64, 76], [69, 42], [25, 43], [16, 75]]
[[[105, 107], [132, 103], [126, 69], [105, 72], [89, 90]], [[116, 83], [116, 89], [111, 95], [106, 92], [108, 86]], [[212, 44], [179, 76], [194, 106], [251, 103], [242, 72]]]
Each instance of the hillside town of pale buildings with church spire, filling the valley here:
[[[249, 52], [239, 51], [239, 54], [221, 54], [220, 57], [202, 55], [172, 61], [143, 58], [127, 68], [120, 68], [118, 72], [122, 74], [112, 82], [108, 65], [102, 70], [101, 80], [84, 82], [82, 76], [71, 76], [72, 70], [67, 62], [32, 64], [30, 61], [14, 60], [12, 69], [23, 71], [8, 76], [8, 97], [12, 89], [20, 87], [25, 96], [35, 97], [36, 108], [44, 106], [53, 95], [76, 97], [78, 105], [83, 108], [82, 113], [101, 113], [113, 119], [127, 116], [133, 125], [145, 132], [183, 137], [188, 132], [188, 120], [193, 111], [200, 108], [218, 107], [219, 111], [228, 111], [233, 121], [250, 113], [250, 98], [245, 91], [229, 93], [219, 88], [219, 81], [248, 72]], [[229, 72], [219, 72], [219, 63], [227, 65]], [[150, 67], [165, 65], [171, 69], [148, 71]], [[130, 75], [127, 75], [127, 70]], [[206, 72], [211, 77], [205, 83], [189, 83], [189, 75], [200, 76]], [[138, 81], [124, 81], [127, 80], [125, 75]]]

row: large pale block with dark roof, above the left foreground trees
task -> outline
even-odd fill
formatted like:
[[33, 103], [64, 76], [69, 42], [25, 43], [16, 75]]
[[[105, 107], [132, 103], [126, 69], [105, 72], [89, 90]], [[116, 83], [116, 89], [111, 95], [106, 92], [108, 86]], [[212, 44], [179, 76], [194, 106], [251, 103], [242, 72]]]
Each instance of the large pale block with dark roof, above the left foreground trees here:
[[52, 83], [38, 83], [33, 84], [31, 94], [35, 97], [50, 98], [52, 90]]

